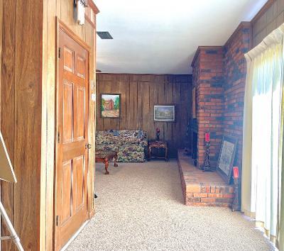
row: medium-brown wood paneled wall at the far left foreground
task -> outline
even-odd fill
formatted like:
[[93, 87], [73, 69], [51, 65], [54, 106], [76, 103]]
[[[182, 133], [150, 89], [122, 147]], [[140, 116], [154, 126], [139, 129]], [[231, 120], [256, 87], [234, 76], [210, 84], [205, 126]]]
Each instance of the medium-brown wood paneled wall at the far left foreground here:
[[[14, 186], [2, 182], [1, 199], [25, 250], [39, 250], [43, 0], [1, 0], [0, 6], [1, 132], [18, 178]], [[1, 245], [15, 248], [11, 241]]]

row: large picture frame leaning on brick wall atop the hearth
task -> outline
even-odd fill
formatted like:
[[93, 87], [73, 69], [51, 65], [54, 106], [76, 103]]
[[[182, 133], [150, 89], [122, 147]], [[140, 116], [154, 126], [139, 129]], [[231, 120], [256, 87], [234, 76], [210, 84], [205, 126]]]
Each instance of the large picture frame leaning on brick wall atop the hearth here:
[[234, 160], [236, 156], [237, 138], [224, 135], [217, 162], [217, 172], [220, 174], [226, 184], [231, 182]]

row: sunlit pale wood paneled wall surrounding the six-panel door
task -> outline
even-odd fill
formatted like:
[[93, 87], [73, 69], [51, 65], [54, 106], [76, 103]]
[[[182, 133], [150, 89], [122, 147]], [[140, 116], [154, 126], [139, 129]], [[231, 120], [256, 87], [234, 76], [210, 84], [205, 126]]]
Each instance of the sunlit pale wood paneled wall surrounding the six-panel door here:
[[[73, 16], [73, 0], [43, 0], [43, 123], [42, 123], [42, 183], [43, 211], [40, 224], [40, 250], [53, 248], [53, 182], [54, 182], [54, 147], [55, 147], [55, 89], [56, 89], [56, 17], [83, 40], [90, 48], [89, 54], [89, 143], [94, 145], [95, 103], [91, 95], [95, 92], [96, 82], [96, 17], [88, 7], [88, 20], [84, 26], [79, 26]], [[45, 185], [44, 185], [45, 184]], [[94, 147], [89, 150], [88, 172], [88, 211], [94, 215]]]

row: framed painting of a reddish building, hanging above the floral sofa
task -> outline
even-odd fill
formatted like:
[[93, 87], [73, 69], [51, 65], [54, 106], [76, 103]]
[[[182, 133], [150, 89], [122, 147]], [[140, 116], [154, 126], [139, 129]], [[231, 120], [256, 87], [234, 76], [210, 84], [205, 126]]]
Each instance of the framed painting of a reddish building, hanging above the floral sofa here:
[[119, 118], [121, 94], [101, 94], [101, 117]]

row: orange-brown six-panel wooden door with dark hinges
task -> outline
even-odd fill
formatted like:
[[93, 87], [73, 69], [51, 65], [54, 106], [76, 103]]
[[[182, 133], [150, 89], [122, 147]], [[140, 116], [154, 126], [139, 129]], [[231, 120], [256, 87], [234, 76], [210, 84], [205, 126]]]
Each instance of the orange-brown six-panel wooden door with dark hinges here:
[[55, 250], [87, 220], [89, 52], [58, 30]]

